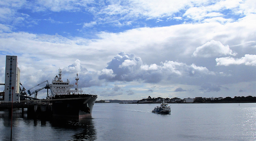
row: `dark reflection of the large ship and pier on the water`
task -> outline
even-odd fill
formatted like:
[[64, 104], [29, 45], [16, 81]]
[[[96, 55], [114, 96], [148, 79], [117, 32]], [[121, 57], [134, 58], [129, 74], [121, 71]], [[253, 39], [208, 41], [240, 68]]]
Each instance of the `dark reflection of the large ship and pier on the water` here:
[[[6, 137], [2, 139], [10, 139], [9, 128], [10, 120], [9, 112], [0, 111], [0, 125], [4, 128], [4, 135]], [[24, 116], [21, 115], [21, 111], [16, 110], [13, 113], [13, 127], [14, 129], [22, 129], [15, 131], [16, 139], [26, 138], [25, 135], [29, 134], [31, 137], [43, 139], [41, 134], [27, 133], [31, 129], [37, 133], [49, 135], [49, 139], [60, 139], [66, 141], [81, 141], [81, 140], [96, 140], [97, 131], [92, 117], [86, 119], [71, 119], [71, 118], [52, 118], [43, 114], [27, 115], [25, 112]], [[26, 134], [24, 134], [26, 132]], [[2, 134], [2, 133], [1, 133]], [[1, 140], [1, 137], [0, 137]], [[28, 139], [29, 140], [29, 139]]]

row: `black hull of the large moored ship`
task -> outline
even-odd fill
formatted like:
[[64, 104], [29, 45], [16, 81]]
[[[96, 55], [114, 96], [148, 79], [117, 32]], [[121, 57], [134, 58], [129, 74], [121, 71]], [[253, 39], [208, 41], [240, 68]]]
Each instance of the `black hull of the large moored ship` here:
[[68, 94], [52, 98], [52, 116], [61, 118], [90, 118], [97, 95]]

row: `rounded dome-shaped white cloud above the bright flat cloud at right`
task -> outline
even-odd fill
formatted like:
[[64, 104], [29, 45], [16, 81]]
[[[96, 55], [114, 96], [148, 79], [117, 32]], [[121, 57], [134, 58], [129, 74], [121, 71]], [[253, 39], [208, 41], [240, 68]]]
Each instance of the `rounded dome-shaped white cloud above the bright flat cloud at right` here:
[[233, 51], [229, 48], [228, 45], [224, 46], [220, 41], [211, 40], [204, 45], [197, 47], [196, 51], [194, 51], [194, 57], [215, 57], [221, 55], [233, 55], [235, 56], [237, 53], [233, 53]]

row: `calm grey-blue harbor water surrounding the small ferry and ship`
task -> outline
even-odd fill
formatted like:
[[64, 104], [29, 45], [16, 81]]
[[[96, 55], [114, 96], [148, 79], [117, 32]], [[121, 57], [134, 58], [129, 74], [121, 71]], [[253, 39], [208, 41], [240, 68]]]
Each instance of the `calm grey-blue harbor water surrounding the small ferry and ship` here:
[[[14, 110], [12, 141], [255, 141], [256, 103], [170, 104], [171, 114], [154, 114], [160, 104], [94, 104], [81, 121], [28, 117]], [[0, 141], [10, 141], [11, 118], [0, 111]]]

